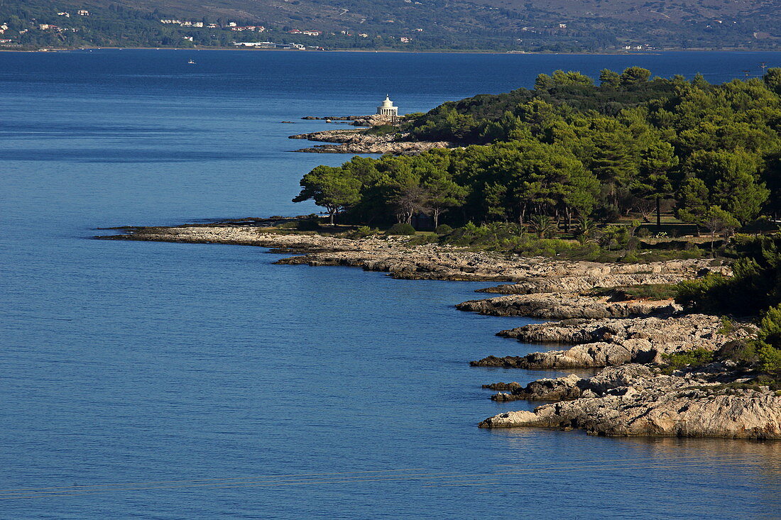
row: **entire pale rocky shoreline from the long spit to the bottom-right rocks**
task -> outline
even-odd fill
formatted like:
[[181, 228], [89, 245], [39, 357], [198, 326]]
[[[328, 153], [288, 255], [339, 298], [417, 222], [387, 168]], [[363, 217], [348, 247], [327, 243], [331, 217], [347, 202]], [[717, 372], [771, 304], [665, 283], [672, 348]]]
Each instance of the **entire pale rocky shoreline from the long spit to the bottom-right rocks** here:
[[781, 438], [781, 396], [767, 386], [740, 386], [751, 379], [731, 362], [662, 374], [663, 356], [719, 352], [754, 337], [750, 324], [725, 329], [711, 315], [686, 314], [672, 301], [612, 301], [594, 287], [676, 283], [726, 265], [706, 260], [645, 265], [569, 262], [468, 251], [435, 244], [410, 245], [402, 237], [351, 239], [269, 230], [241, 221], [175, 227], [128, 227], [102, 240], [154, 240], [241, 244], [295, 256], [286, 265], [344, 265], [408, 280], [511, 282], [484, 292], [503, 294], [457, 305], [490, 315], [558, 319], [498, 333], [522, 343], [565, 348], [524, 355], [494, 355], [476, 367], [601, 369], [590, 378], [574, 374], [519, 383], [484, 385], [494, 401], [555, 401], [534, 411], [513, 411], [480, 422], [482, 428], [583, 429], [595, 435], [721, 436]]

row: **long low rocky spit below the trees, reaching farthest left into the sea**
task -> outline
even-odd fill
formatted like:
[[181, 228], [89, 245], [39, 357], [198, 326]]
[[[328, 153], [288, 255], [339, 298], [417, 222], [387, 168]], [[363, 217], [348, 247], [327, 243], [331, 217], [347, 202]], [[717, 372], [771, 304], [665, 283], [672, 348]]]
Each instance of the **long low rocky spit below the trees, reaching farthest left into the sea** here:
[[[121, 234], [95, 237], [101, 240], [150, 240], [190, 244], [235, 244], [291, 252], [298, 256], [277, 263], [287, 265], [343, 265], [367, 271], [388, 272], [406, 280], [451, 280], [519, 283], [550, 283], [563, 276], [601, 276], [627, 272], [676, 273], [680, 280], [697, 276], [708, 260], [654, 262], [643, 265], [572, 262], [546, 257], [523, 257], [492, 251], [470, 251], [454, 246], [410, 245], [408, 237], [374, 236], [348, 238], [326, 233], [278, 230], [270, 225], [285, 219], [260, 223], [231, 221], [185, 226], [127, 226]], [[597, 301], [597, 299], [594, 299]]]

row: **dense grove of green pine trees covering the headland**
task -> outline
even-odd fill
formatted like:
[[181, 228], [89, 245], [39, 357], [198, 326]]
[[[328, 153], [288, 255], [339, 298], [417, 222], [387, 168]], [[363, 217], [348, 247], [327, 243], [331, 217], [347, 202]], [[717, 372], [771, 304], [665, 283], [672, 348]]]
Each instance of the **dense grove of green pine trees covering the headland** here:
[[405, 130], [460, 147], [320, 166], [295, 200], [369, 225], [546, 217], [562, 231], [658, 222], [664, 206], [711, 238], [781, 211], [781, 69], [711, 85], [630, 67], [600, 82], [556, 71], [533, 90], [445, 103]]

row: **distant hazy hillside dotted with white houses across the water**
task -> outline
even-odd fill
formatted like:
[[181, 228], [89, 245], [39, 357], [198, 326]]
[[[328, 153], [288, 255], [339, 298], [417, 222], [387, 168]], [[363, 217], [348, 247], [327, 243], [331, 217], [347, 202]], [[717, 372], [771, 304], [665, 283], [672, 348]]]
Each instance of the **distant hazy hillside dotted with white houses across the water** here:
[[[58, 15], [82, 9], [89, 16]], [[276, 41], [516, 52], [773, 49], [781, 48], [779, 16], [777, 0], [0, 0], [0, 23], [9, 26], [0, 43], [216, 47]], [[41, 28], [51, 25], [54, 30]], [[241, 27], [252, 28], [237, 30]]]

